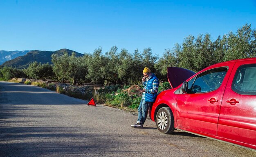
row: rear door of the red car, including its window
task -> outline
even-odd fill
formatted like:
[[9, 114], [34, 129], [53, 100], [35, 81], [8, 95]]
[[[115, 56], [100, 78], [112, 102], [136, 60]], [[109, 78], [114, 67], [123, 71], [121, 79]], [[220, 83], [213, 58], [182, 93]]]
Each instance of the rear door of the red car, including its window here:
[[234, 65], [223, 96], [217, 134], [256, 145], [256, 59]]

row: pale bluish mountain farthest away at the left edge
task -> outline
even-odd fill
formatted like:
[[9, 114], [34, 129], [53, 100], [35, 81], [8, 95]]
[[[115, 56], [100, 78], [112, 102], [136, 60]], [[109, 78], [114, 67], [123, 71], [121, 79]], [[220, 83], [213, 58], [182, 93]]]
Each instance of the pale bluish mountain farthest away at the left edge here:
[[0, 50], [0, 65], [6, 61], [9, 61], [11, 59], [15, 59], [20, 56], [24, 56], [29, 52], [30, 50], [25, 51], [4, 51]]

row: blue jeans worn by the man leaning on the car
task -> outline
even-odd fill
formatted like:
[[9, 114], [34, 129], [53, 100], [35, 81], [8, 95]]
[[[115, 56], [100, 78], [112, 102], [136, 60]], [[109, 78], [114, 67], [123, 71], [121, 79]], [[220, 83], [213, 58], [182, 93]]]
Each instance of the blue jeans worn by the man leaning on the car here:
[[147, 119], [148, 116], [148, 109], [152, 105], [153, 102], [146, 102], [145, 99], [141, 99], [139, 103], [139, 108], [138, 108], [138, 122], [140, 122], [142, 125]]

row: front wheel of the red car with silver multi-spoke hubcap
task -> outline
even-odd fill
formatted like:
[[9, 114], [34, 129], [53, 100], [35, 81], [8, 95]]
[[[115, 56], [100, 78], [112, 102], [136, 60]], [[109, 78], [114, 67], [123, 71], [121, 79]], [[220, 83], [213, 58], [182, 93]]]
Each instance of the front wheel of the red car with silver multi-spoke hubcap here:
[[157, 112], [155, 123], [158, 131], [165, 134], [173, 133], [174, 131], [174, 119], [173, 112], [169, 107], [162, 107]]

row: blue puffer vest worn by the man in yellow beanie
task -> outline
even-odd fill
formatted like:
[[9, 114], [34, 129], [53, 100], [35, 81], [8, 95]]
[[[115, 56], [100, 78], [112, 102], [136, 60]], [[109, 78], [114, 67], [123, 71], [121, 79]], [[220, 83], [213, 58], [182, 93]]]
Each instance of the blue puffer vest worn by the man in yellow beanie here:
[[[144, 87], [146, 86], [146, 89], [152, 89], [153, 88], [153, 81], [158, 80], [155, 74], [152, 74], [152, 76], [148, 79], [148, 81], [145, 81], [143, 83]], [[157, 98], [157, 92], [153, 94], [145, 93], [145, 101], [146, 102], [154, 102], [155, 98]]]

